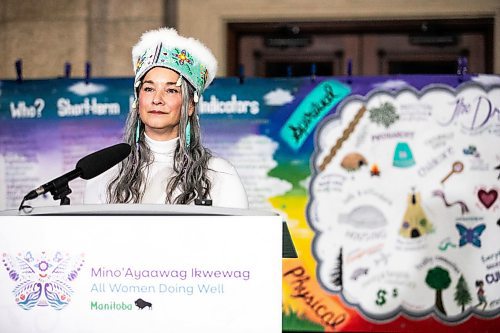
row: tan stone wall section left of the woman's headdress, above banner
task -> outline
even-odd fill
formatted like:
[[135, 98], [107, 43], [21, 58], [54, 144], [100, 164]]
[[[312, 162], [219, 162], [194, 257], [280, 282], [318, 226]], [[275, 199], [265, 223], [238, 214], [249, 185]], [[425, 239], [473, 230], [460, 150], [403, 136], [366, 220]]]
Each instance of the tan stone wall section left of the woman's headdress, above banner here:
[[0, 0], [0, 78], [15, 78], [23, 60], [25, 78], [64, 74], [130, 76], [132, 45], [145, 30], [163, 24], [164, 1]]

